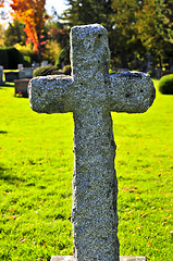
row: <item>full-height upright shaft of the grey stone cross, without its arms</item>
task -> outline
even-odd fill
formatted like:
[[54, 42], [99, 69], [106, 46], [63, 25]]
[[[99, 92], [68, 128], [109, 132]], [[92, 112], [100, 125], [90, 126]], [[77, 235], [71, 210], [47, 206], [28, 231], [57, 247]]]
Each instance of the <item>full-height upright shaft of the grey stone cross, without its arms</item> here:
[[[88, 26], [89, 28], [89, 26]], [[71, 35], [75, 96], [73, 248], [78, 261], [119, 260], [115, 144], [106, 77], [107, 30], [74, 27]], [[83, 42], [83, 45], [82, 45]]]

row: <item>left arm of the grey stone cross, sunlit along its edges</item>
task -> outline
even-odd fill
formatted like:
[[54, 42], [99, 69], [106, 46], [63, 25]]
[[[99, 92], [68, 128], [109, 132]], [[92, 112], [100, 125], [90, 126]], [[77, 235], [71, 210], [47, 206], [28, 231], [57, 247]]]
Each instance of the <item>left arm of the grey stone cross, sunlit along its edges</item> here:
[[70, 112], [73, 80], [70, 76], [40, 76], [29, 82], [30, 108], [39, 113]]

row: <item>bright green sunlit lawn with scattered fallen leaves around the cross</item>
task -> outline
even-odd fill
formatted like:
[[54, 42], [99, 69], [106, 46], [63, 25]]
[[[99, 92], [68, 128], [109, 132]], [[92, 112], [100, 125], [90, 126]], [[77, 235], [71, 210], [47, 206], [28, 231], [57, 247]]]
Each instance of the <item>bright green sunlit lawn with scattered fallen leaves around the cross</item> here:
[[[72, 113], [37, 114], [0, 87], [0, 261], [73, 254]], [[157, 92], [148, 112], [112, 117], [121, 256], [171, 261], [173, 96]]]

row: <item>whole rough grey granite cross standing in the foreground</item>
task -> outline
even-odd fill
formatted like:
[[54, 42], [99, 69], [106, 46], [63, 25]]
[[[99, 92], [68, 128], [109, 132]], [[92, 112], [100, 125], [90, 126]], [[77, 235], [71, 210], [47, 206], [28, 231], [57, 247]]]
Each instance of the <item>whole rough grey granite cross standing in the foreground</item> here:
[[110, 76], [108, 32], [98, 24], [71, 30], [72, 76], [36, 77], [30, 107], [40, 113], [73, 112], [73, 250], [77, 261], [118, 261], [118, 182], [111, 111], [145, 112], [155, 88], [144, 73]]

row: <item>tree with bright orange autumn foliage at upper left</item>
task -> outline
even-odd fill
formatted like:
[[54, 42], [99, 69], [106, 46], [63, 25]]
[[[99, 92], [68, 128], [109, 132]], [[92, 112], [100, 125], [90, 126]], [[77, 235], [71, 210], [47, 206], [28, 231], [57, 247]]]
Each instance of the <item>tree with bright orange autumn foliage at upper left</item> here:
[[12, 16], [25, 24], [27, 42], [33, 42], [34, 51], [38, 52], [39, 57], [41, 54], [40, 44], [44, 25], [49, 17], [46, 14], [45, 4], [46, 0], [12, 0], [10, 4], [13, 10]]

